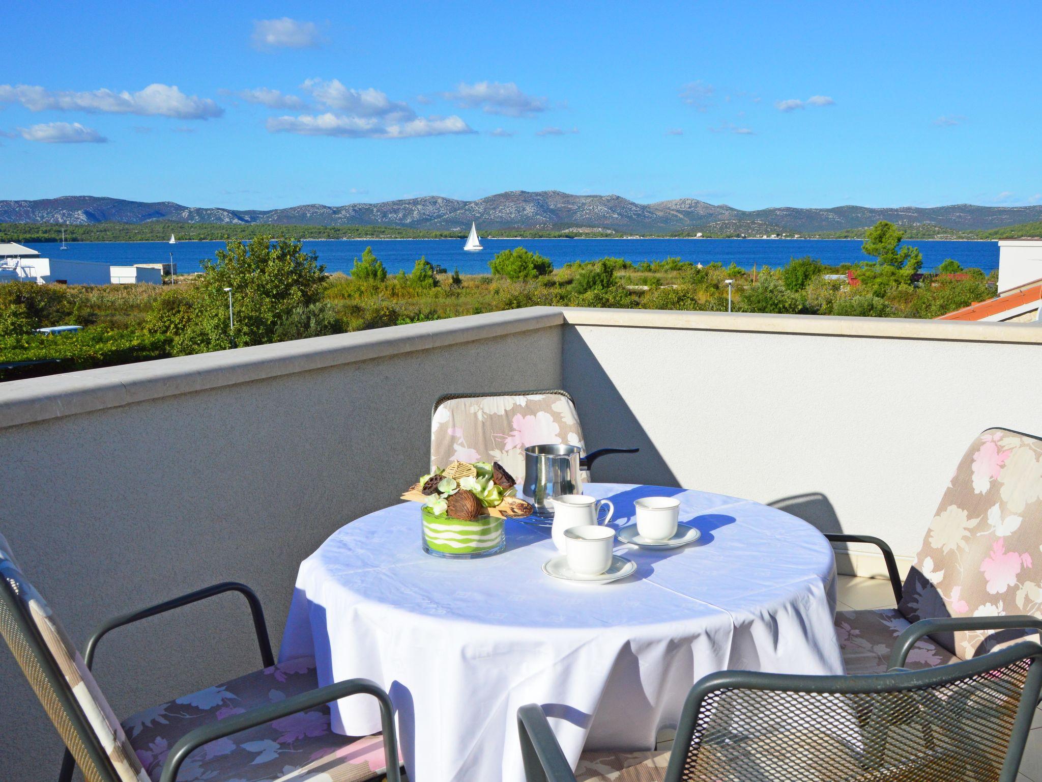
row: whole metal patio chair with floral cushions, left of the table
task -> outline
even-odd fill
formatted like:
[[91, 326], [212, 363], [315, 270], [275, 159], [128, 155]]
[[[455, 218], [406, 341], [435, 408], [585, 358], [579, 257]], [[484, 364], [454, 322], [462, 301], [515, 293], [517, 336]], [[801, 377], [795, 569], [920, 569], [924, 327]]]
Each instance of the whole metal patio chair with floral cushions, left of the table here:
[[[124, 625], [229, 591], [249, 603], [265, 668], [121, 724], [91, 674], [98, 641]], [[68, 748], [60, 782], [72, 778], [74, 760], [88, 782], [363, 782], [383, 775], [400, 782], [388, 694], [365, 679], [318, 687], [308, 658], [276, 664], [260, 602], [243, 584], [217, 584], [111, 619], [91, 636], [81, 658], [0, 535], [0, 635]], [[377, 700], [382, 734], [330, 732], [328, 704], [352, 694]]]

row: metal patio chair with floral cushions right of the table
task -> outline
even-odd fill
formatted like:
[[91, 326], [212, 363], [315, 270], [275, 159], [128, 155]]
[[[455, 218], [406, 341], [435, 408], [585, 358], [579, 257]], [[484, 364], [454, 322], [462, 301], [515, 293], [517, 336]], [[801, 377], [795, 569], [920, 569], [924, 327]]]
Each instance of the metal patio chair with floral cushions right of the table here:
[[908, 667], [967, 660], [1042, 627], [1042, 440], [990, 429], [966, 450], [901, 586], [883, 540], [826, 534], [835, 543], [883, 552], [897, 607], [839, 611], [836, 629], [848, 674], [886, 670], [897, 636], [929, 622]]

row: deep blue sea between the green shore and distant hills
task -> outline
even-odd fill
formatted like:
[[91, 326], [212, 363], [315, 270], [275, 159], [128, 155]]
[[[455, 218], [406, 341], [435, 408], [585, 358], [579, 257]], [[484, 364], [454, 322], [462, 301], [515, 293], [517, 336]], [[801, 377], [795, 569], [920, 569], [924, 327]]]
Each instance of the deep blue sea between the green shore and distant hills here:
[[[810, 255], [824, 264], [838, 265], [866, 261], [860, 240], [847, 239], [482, 239], [485, 249], [465, 252], [462, 239], [383, 239], [304, 241], [305, 250], [318, 253], [319, 263], [329, 272], [349, 272], [355, 258], [371, 246], [388, 271], [412, 271], [421, 255], [448, 271], [461, 274], [486, 274], [489, 261], [503, 249], [523, 246], [545, 255], [555, 267], [572, 261], [593, 261], [611, 255], [626, 261], [662, 261], [679, 258], [708, 265], [717, 261], [724, 266], [738, 264], [743, 269], [770, 266], [777, 268], [791, 258]], [[947, 258], [964, 267], [983, 269], [985, 273], [998, 268], [997, 242], [912, 241], [923, 256], [923, 271], [936, 268]], [[69, 249], [59, 250], [57, 243], [27, 245], [40, 250], [45, 258], [66, 258], [74, 261], [129, 265], [166, 263], [173, 253], [181, 274], [199, 271], [199, 261], [214, 258], [223, 242], [71, 242]]]

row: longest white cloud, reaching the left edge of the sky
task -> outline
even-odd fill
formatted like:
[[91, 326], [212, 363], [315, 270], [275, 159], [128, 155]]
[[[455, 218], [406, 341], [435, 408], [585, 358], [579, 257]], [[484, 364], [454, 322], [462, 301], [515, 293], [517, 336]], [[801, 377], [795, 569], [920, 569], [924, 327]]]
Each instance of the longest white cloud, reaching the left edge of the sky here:
[[142, 117], [176, 117], [205, 120], [224, 114], [209, 98], [185, 95], [176, 87], [149, 84], [140, 92], [47, 90], [28, 84], [0, 84], [0, 103], [21, 103], [30, 112], [59, 111], [91, 114], [137, 114]]

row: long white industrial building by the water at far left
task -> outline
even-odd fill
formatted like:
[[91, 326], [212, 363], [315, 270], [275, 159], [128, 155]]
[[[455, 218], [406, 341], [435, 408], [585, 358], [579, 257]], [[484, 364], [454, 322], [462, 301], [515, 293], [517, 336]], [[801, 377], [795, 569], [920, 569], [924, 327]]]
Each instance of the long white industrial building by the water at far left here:
[[0, 283], [54, 283], [57, 285], [163, 285], [165, 264], [109, 266], [92, 261], [41, 258], [20, 244], [0, 243]]

